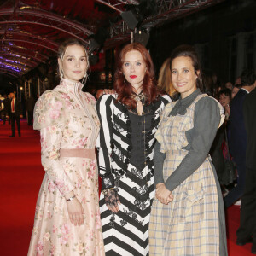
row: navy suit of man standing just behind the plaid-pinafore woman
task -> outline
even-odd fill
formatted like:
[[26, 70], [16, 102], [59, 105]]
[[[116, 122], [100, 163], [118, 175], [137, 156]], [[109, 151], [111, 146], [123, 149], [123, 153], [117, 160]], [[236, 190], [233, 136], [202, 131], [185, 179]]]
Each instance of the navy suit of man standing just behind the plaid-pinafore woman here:
[[224, 197], [225, 207], [230, 207], [240, 199], [245, 187], [247, 132], [244, 125], [243, 103], [247, 94], [246, 90], [239, 90], [230, 106], [229, 147], [236, 163], [238, 177], [236, 187]]

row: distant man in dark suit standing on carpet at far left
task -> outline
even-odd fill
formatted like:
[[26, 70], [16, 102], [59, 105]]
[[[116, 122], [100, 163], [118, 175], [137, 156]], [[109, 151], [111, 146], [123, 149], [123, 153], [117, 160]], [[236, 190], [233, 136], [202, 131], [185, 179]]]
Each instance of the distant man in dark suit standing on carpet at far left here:
[[20, 119], [23, 118], [22, 109], [21, 109], [21, 103], [19, 99], [15, 97], [15, 94], [11, 92], [9, 94], [10, 96], [10, 106], [9, 106], [9, 119], [11, 121], [11, 128], [12, 128], [12, 135], [9, 137], [15, 137], [15, 122], [17, 125], [18, 135], [21, 136], [20, 132]]

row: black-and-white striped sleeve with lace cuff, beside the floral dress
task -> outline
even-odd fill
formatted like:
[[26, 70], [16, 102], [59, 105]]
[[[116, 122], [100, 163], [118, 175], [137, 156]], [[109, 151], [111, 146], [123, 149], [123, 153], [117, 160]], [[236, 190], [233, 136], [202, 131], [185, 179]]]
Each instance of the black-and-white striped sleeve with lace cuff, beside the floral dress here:
[[100, 177], [102, 177], [102, 190], [113, 188], [114, 186], [114, 177], [111, 170], [113, 129], [110, 104], [112, 100], [111, 95], [103, 95], [96, 104], [97, 113], [101, 121], [97, 148], [99, 172]]

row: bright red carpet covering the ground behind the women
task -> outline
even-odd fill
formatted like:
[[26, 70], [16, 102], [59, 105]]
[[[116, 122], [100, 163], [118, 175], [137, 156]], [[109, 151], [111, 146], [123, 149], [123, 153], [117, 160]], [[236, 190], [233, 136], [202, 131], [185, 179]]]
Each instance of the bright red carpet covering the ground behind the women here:
[[[21, 137], [9, 137], [10, 125], [0, 124], [0, 255], [25, 256], [32, 233], [38, 191], [44, 177], [38, 131], [21, 122]], [[239, 207], [227, 212], [230, 256], [247, 256], [251, 245], [236, 246]], [[45, 255], [46, 256], [46, 255]], [[72, 255], [70, 255], [72, 256]], [[176, 256], [176, 255], [173, 255]]]

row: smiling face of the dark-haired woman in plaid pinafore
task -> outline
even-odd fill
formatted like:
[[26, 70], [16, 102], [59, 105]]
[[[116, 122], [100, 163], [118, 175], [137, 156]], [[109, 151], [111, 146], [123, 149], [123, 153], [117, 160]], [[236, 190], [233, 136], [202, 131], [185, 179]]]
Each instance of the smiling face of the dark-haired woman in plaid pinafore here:
[[180, 56], [172, 60], [172, 84], [182, 98], [196, 90], [197, 74], [190, 57]]

